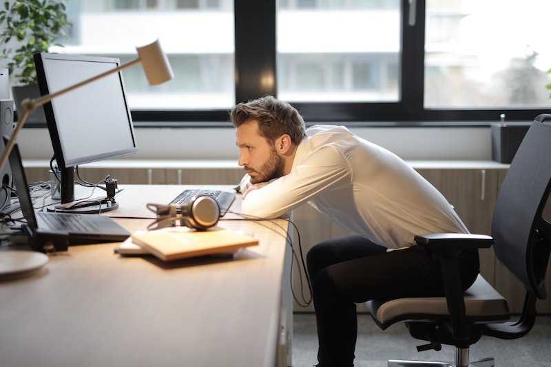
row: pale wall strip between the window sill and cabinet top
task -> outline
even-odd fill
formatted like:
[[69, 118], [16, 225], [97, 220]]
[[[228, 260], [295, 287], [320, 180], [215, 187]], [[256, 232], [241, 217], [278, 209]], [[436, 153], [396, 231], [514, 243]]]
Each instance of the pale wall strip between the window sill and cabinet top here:
[[[491, 159], [489, 128], [351, 128], [403, 159]], [[137, 128], [139, 153], [129, 159], [237, 159], [231, 128]], [[23, 129], [18, 138], [25, 159], [49, 159], [47, 129]]]

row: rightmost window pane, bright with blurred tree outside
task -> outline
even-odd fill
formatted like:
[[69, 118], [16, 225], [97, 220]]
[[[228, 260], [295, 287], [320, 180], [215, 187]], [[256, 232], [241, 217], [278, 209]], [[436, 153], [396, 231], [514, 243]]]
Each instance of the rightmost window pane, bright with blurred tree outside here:
[[549, 1], [427, 1], [424, 106], [549, 107], [548, 14]]

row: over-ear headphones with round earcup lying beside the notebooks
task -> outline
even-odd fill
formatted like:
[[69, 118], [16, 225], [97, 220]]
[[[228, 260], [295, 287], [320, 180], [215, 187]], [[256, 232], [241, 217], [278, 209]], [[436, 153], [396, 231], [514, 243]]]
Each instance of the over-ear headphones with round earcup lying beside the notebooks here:
[[207, 195], [191, 198], [185, 204], [147, 204], [147, 209], [157, 215], [157, 220], [147, 226], [147, 230], [158, 230], [163, 227], [180, 225], [196, 230], [207, 230], [218, 223], [220, 206], [216, 200]]

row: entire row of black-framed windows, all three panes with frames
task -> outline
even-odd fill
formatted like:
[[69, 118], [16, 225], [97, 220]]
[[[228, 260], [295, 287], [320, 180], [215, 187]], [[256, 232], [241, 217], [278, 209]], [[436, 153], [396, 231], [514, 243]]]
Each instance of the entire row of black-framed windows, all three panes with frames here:
[[[411, 6], [415, 4], [415, 8]], [[551, 109], [551, 1], [68, 0], [64, 49], [136, 56], [158, 35], [175, 78], [123, 71], [135, 121], [227, 122], [274, 94], [306, 122], [532, 120]]]

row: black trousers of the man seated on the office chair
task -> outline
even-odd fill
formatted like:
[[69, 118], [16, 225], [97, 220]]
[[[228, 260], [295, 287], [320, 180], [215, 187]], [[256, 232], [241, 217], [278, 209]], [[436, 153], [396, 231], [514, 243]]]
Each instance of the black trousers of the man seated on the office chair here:
[[[440, 265], [419, 246], [386, 252], [362, 236], [318, 243], [306, 256], [318, 324], [318, 366], [353, 366], [356, 303], [444, 296]], [[479, 273], [478, 250], [459, 258], [464, 289]]]

